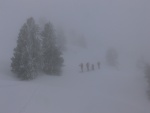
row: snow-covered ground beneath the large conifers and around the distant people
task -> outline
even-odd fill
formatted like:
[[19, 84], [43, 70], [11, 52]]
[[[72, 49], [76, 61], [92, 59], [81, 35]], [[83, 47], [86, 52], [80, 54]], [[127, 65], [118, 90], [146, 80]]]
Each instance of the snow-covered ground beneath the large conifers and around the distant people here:
[[[65, 54], [62, 76], [43, 75], [33, 81], [18, 81], [9, 72], [9, 76], [5, 75], [2, 66], [0, 113], [150, 112], [146, 80], [141, 72], [121, 64], [118, 69], [110, 68], [98, 51], [77, 50]], [[102, 63], [100, 70], [80, 72], [81, 62], [98, 60]]]

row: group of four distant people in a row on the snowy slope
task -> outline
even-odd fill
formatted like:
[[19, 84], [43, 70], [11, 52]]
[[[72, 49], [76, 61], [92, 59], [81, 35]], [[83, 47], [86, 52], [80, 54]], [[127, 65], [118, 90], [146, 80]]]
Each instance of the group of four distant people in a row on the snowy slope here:
[[[83, 72], [84, 64], [81, 63], [79, 66], [81, 68], [81, 72]], [[97, 66], [98, 66], [98, 69], [100, 69], [100, 62], [97, 62]], [[90, 65], [89, 62], [86, 63], [86, 68], [87, 68], [87, 71], [90, 71], [90, 69], [93, 71], [95, 69], [94, 64]]]

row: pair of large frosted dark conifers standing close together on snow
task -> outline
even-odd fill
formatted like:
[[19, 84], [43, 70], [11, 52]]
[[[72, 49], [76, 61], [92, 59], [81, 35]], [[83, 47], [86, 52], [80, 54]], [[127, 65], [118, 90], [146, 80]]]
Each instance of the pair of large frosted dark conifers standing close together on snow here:
[[50, 22], [41, 30], [33, 17], [28, 18], [18, 35], [11, 71], [22, 80], [34, 79], [39, 72], [60, 75], [64, 59], [57, 40]]

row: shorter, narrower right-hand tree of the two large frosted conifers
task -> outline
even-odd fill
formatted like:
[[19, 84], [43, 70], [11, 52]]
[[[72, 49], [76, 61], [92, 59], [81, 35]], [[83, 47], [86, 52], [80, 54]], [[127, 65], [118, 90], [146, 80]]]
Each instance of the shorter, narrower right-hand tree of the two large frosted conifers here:
[[42, 41], [42, 69], [46, 74], [59, 75], [63, 65], [62, 53], [56, 43], [56, 35], [51, 23], [44, 26], [41, 33]]

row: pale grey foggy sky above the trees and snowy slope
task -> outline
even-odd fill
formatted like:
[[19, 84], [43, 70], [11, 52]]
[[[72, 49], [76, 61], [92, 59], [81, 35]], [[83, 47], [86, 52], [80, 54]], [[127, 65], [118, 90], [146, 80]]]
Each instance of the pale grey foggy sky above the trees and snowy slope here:
[[0, 50], [6, 54], [13, 50], [21, 26], [32, 16], [83, 33], [91, 41], [89, 47], [143, 51], [150, 43], [149, 4], [149, 0], [0, 0]]

